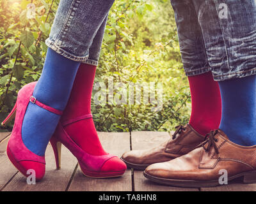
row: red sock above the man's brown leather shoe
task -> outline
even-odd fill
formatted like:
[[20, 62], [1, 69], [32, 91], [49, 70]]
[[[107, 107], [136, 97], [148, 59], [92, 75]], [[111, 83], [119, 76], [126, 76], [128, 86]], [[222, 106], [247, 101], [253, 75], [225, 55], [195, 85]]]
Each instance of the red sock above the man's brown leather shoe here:
[[189, 124], [201, 135], [217, 129], [221, 120], [221, 96], [212, 73], [188, 77], [192, 112]]

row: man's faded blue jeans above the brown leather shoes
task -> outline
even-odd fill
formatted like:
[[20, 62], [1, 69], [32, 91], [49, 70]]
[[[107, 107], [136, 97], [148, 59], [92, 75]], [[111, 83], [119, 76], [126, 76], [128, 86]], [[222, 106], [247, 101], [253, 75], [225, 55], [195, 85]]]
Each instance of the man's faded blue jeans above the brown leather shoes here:
[[171, 0], [187, 76], [256, 74], [255, 0]]

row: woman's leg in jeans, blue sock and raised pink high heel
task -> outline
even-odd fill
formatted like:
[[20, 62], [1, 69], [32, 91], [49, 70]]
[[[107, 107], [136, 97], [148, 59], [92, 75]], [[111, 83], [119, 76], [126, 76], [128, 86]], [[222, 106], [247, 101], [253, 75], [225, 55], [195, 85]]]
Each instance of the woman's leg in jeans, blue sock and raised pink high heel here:
[[[114, 0], [60, 1], [51, 34], [46, 41], [49, 49], [42, 75], [37, 84], [30, 83], [22, 87], [15, 107], [2, 123], [10, 122], [16, 115], [6, 152], [23, 175], [28, 176], [27, 170], [33, 169], [37, 180], [44, 177], [45, 148], [54, 130], [58, 128], [57, 124], [60, 124], [60, 115], [67, 105], [79, 64], [88, 59], [93, 38], [113, 2]], [[68, 140], [68, 136], [65, 139]], [[60, 147], [55, 141], [51, 141], [54, 144], [54, 154]], [[73, 141], [70, 143], [74, 145]], [[74, 152], [79, 152], [77, 149]], [[58, 155], [55, 154], [56, 161], [60, 161]], [[88, 157], [93, 158], [87, 154], [86, 158]], [[110, 159], [114, 156], [106, 157]], [[79, 163], [86, 166], [81, 161]], [[99, 167], [99, 163], [93, 165]]]

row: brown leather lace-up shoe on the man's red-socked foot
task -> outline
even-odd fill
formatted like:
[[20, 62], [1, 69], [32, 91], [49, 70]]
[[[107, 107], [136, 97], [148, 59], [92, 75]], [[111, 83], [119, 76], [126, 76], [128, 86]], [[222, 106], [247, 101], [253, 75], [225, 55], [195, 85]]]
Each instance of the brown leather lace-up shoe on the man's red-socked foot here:
[[205, 137], [197, 133], [189, 124], [176, 128], [172, 138], [159, 147], [125, 152], [121, 159], [130, 168], [145, 170], [150, 164], [170, 161], [187, 154], [201, 142], [204, 142]]

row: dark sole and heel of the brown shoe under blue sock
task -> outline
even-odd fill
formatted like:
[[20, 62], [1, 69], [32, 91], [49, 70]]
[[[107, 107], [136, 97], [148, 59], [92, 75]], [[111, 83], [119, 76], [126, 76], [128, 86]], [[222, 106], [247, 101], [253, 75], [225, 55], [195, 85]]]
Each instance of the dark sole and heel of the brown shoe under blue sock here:
[[[219, 180], [179, 180], [179, 179], [163, 179], [159, 177], [154, 177], [149, 175], [145, 171], [143, 175], [155, 182], [157, 184], [164, 184], [166, 186], [175, 186], [175, 187], [215, 187], [220, 186]], [[256, 171], [246, 171], [243, 173], [238, 173], [232, 177], [228, 177], [228, 182], [239, 177], [243, 177], [244, 184], [253, 184], [256, 183]]]

